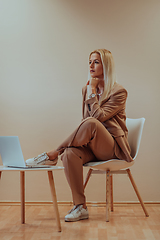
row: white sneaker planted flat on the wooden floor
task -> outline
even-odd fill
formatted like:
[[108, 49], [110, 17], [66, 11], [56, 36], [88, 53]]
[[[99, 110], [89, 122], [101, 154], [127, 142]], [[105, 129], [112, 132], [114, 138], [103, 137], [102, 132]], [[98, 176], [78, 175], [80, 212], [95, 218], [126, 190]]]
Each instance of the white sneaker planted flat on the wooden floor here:
[[83, 220], [83, 219], [88, 219], [89, 218], [89, 214], [88, 214], [88, 209], [86, 207], [83, 208], [83, 205], [79, 205], [79, 206], [75, 206], [74, 208], [72, 208], [69, 212], [69, 214], [67, 214], [65, 216], [65, 221], [66, 222], [75, 222], [78, 220]]

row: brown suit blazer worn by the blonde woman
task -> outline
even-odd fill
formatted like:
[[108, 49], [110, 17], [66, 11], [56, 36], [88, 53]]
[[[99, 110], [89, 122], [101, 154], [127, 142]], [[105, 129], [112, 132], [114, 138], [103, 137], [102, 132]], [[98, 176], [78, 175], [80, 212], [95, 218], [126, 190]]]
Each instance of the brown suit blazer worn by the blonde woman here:
[[98, 119], [115, 139], [115, 155], [118, 159], [124, 159], [127, 162], [133, 161], [130, 155], [130, 147], [126, 127], [126, 99], [127, 91], [121, 85], [116, 83], [109, 96], [99, 102], [96, 97], [86, 99], [87, 86], [83, 87], [82, 116], [94, 117]]

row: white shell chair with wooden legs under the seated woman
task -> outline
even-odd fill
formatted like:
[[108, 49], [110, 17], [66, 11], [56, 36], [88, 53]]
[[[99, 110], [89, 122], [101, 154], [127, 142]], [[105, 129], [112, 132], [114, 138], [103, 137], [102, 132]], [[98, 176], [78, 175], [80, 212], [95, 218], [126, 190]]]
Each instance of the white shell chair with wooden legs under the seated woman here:
[[108, 161], [88, 162], [84, 164], [85, 167], [90, 168], [84, 182], [84, 188], [86, 187], [92, 173], [106, 173], [106, 221], [107, 222], [109, 222], [109, 202], [110, 202], [109, 200], [111, 200], [111, 211], [113, 211], [113, 177], [112, 177], [113, 174], [128, 174], [128, 177], [137, 194], [140, 204], [144, 210], [144, 213], [146, 217], [149, 216], [130, 171], [130, 167], [134, 164], [138, 154], [144, 122], [145, 122], [144, 118], [139, 118], [139, 119], [127, 118], [126, 119], [126, 125], [128, 128], [128, 141], [131, 148], [131, 156], [134, 161], [126, 162], [125, 160], [111, 159]]

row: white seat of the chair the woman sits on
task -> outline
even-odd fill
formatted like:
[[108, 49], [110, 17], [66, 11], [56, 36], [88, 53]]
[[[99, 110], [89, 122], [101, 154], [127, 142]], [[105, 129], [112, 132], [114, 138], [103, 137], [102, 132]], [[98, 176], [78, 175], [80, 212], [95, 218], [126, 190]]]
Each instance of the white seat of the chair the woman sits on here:
[[99, 161], [99, 162], [88, 162], [84, 164], [85, 167], [90, 167], [92, 169], [97, 169], [101, 171], [118, 171], [120, 169], [126, 169], [131, 167], [134, 164], [134, 161], [127, 162], [125, 160], [111, 159], [108, 161]]

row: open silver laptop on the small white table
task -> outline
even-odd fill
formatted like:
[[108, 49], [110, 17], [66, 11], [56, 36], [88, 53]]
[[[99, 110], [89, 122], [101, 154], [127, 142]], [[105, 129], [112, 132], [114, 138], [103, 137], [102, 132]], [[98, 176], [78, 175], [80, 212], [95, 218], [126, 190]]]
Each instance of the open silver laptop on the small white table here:
[[51, 165], [26, 166], [18, 136], [0, 136], [3, 166], [14, 168], [49, 168]]

